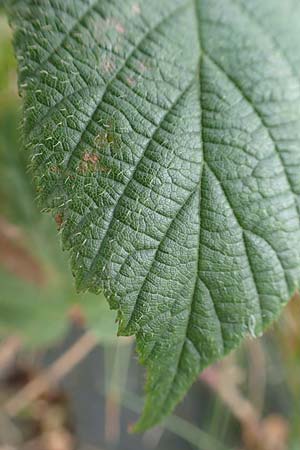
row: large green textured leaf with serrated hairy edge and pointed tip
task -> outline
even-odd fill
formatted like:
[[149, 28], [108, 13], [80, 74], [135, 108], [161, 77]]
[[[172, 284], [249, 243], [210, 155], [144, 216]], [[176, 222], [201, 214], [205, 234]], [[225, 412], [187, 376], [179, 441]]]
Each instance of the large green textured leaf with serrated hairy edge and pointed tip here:
[[18, 0], [24, 133], [79, 289], [148, 368], [137, 429], [300, 276], [296, 0]]

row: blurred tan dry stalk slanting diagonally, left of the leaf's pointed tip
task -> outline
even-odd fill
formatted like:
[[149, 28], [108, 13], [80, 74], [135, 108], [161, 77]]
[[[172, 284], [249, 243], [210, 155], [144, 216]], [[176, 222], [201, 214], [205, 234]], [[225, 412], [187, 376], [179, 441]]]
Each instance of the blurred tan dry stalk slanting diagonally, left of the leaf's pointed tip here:
[[47, 391], [50, 386], [64, 378], [97, 344], [96, 337], [87, 331], [47, 370], [10, 398], [4, 405], [4, 411], [10, 416], [16, 416]]

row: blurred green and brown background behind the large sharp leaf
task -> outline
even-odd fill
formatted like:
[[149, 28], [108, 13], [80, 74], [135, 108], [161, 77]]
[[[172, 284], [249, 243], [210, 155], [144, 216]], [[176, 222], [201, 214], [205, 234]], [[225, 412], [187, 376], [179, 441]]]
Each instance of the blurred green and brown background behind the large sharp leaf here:
[[77, 295], [22, 149], [0, 6], [0, 450], [300, 450], [300, 299], [210, 367], [163, 426], [130, 433], [145, 373], [102, 296]]

